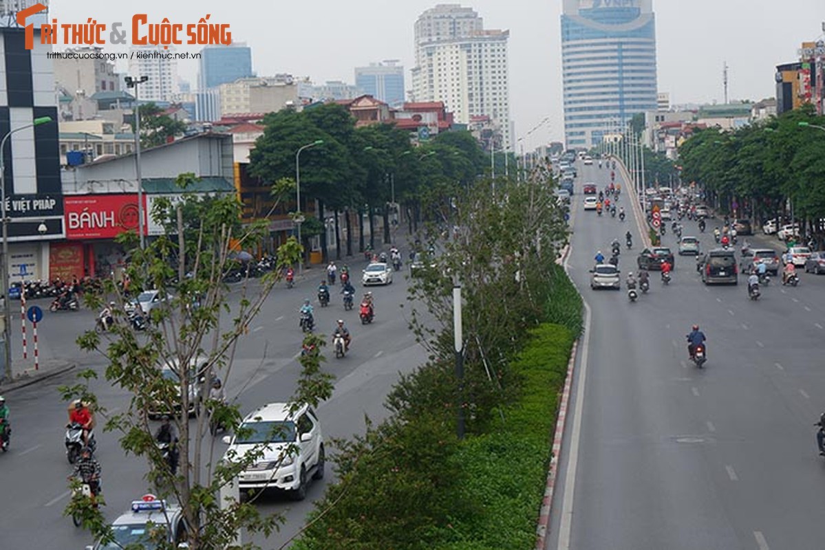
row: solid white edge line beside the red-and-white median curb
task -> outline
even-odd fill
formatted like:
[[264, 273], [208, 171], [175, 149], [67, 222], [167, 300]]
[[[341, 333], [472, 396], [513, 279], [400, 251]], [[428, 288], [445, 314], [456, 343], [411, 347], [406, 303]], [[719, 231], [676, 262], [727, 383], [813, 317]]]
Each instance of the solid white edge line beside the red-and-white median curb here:
[[[569, 258], [570, 256], [568, 256]], [[576, 388], [576, 406], [573, 407], [573, 431], [570, 434], [570, 454], [568, 468], [564, 476], [564, 496], [562, 497], [562, 516], [559, 523], [559, 550], [569, 550], [573, 532], [573, 498], [576, 495], [576, 470], [578, 467], [578, 447], [582, 435], [582, 417], [584, 416], [584, 388], [587, 383], [587, 355], [590, 349], [591, 310], [584, 302], [584, 338], [582, 340], [582, 360], [579, 364], [581, 373]]]

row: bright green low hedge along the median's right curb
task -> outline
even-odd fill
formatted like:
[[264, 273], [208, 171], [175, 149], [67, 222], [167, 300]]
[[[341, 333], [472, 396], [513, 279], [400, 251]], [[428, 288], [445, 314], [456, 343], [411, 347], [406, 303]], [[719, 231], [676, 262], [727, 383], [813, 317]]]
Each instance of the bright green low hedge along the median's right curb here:
[[535, 546], [538, 510], [544, 495], [557, 399], [567, 372], [573, 335], [566, 327], [544, 324], [512, 364], [522, 393], [507, 407], [491, 433], [464, 440], [457, 460], [469, 481], [456, 496], [480, 512], [455, 525], [464, 542], [440, 550], [530, 550]]

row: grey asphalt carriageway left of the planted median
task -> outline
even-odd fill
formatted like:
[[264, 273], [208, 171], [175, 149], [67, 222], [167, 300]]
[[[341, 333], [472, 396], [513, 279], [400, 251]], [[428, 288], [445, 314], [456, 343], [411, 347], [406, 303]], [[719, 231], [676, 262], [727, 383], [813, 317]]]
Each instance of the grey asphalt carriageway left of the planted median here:
[[[358, 257], [351, 260], [353, 274], [359, 275], [354, 281], [361, 295], [360, 273], [365, 264]], [[383, 418], [386, 415], [384, 397], [398, 380], [398, 373], [412, 371], [427, 358], [408, 330], [408, 308], [399, 307], [406, 302], [406, 271], [402, 269], [395, 275], [394, 284], [372, 288], [376, 317], [372, 325], [365, 327], [359, 322], [357, 308], [344, 311], [337, 294], [340, 286], [332, 289], [329, 308], [318, 307], [315, 288], [322, 276], [318, 268], [309, 270], [306, 279], [294, 289], [283, 286], [275, 289], [238, 346], [233, 373], [227, 381], [228, 397], [240, 402], [244, 414], [267, 402], [286, 401], [290, 397], [299, 374], [295, 356], [302, 339], [297, 309], [304, 298], [310, 298], [315, 303], [319, 332], [328, 334], [335, 320], [344, 318], [352, 334], [352, 346], [346, 358], [336, 360], [325, 353], [328, 357], [325, 369], [335, 374], [337, 381], [332, 398], [318, 407], [324, 435], [330, 439], [362, 433], [365, 415], [374, 420]], [[237, 303], [238, 297], [236, 286], [230, 303]], [[41, 307], [49, 305], [45, 300], [40, 302]], [[85, 354], [74, 344], [82, 330], [93, 327], [95, 315], [87, 310], [46, 312], [38, 327], [41, 356], [78, 360], [82, 366], [102, 373], [105, 360], [99, 355]], [[19, 353], [18, 341], [15, 354]], [[60, 400], [57, 387], [74, 380], [73, 374], [64, 374], [7, 395], [13, 433], [11, 449], [0, 456], [0, 487], [7, 501], [0, 515], [2, 548], [84, 548], [92, 543], [89, 534], [75, 529], [70, 519], [62, 517], [68, 501], [66, 476], [71, 466], [64, 452], [66, 405]], [[102, 374], [101, 379], [92, 381], [91, 385], [101, 404], [110, 411], [120, 411], [127, 406], [128, 396], [106, 383]], [[150, 489], [143, 478], [147, 467], [144, 461], [125, 456], [115, 434], [97, 432], [106, 516], [115, 519], [128, 509], [130, 501]], [[221, 456], [224, 449], [224, 444], [216, 440], [214, 456]], [[304, 518], [313, 508], [312, 502], [323, 496], [326, 483], [332, 479], [332, 464], [328, 463], [327, 477], [309, 487], [306, 501], [296, 503], [277, 495], [258, 501], [263, 513], [285, 515], [286, 521], [281, 531], [268, 541], [258, 538], [256, 542], [266, 542], [265, 548], [280, 548], [303, 526]]]

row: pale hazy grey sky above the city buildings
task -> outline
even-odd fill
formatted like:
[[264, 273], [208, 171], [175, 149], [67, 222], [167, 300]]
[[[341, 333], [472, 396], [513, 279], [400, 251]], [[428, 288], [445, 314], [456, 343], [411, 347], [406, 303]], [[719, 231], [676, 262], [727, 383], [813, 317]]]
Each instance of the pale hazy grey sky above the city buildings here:
[[[252, 47], [259, 76], [291, 73], [314, 82], [354, 82], [353, 69], [382, 59], [413, 66], [413, 23], [438, 2], [428, 0], [314, 0], [312, 2], [104, 2], [51, 0], [59, 23], [128, 23], [137, 12], [149, 21], [229, 23], [233, 40]], [[450, 2], [443, 2], [450, 3]], [[525, 139], [528, 148], [563, 138], [559, 16], [561, 0], [474, 0], [488, 29], [510, 31], [510, 106], [516, 138], [549, 117]], [[823, 0], [653, 0], [658, 41], [658, 87], [674, 103], [723, 101], [727, 61], [731, 99], [775, 95], [775, 65], [793, 61], [801, 42], [823, 35]], [[120, 46], [106, 46], [116, 51]], [[57, 49], [63, 49], [58, 47]], [[179, 51], [196, 52], [199, 46]], [[123, 68], [125, 70], [125, 67]], [[178, 64], [194, 88], [195, 61]], [[407, 72], [407, 88], [411, 87]]]

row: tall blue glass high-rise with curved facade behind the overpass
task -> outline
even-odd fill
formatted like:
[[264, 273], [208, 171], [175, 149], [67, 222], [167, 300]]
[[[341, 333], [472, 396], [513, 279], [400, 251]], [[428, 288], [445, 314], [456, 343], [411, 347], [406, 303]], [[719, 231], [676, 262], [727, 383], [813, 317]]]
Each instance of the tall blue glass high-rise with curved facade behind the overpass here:
[[568, 147], [657, 109], [653, 0], [564, 0], [561, 28]]

